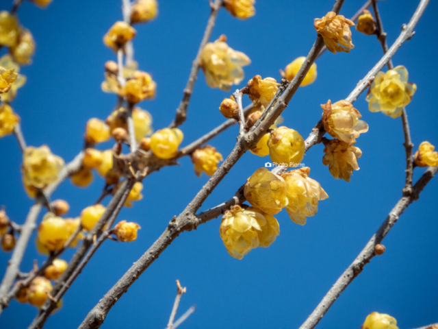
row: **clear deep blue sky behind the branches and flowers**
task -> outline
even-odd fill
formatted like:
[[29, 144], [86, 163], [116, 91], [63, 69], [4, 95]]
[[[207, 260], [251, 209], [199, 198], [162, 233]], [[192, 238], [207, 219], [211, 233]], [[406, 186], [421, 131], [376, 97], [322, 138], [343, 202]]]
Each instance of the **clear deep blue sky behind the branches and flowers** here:
[[[10, 1], [1, 1], [9, 9]], [[379, 2], [391, 45], [403, 23], [408, 23], [418, 1]], [[258, 0], [257, 14], [247, 21], [231, 18], [221, 10], [211, 40], [227, 34], [234, 49], [252, 60], [240, 85], [259, 74], [279, 79], [279, 69], [298, 56], [306, 56], [315, 40], [313, 19], [331, 9], [333, 1]], [[352, 16], [363, 1], [346, 1], [342, 14]], [[415, 37], [402, 46], [395, 64], [409, 70], [417, 93], [407, 106], [415, 148], [422, 141], [438, 145], [436, 110], [436, 15], [431, 1], [415, 29]], [[53, 153], [71, 160], [81, 149], [83, 128], [90, 117], [105, 119], [116, 97], [101, 91], [103, 64], [115, 60], [102, 37], [122, 18], [120, 1], [54, 0], [47, 10], [25, 1], [19, 10], [21, 23], [37, 43], [34, 64], [22, 69], [27, 84], [18, 92], [13, 107], [22, 118], [29, 145], [47, 143]], [[141, 106], [153, 114], [155, 129], [165, 127], [175, 114], [192, 60], [209, 15], [206, 0], [159, 1], [159, 16], [138, 25], [134, 46], [140, 69], [152, 73], [157, 97]], [[432, 27], [432, 28], [431, 28]], [[344, 99], [382, 56], [374, 36], [352, 31], [355, 49], [350, 54], [325, 53], [317, 62], [318, 79], [300, 88], [284, 112], [285, 125], [307, 136], [320, 119], [320, 103]], [[4, 52], [4, 49], [3, 49]], [[223, 121], [220, 101], [229, 93], [212, 90], [203, 73], [182, 129], [183, 145]], [[246, 103], [248, 100], [246, 99]], [[185, 232], [133, 284], [108, 315], [104, 328], [164, 328], [175, 298], [175, 280], [188, 287], [181, 301], [181, 315], [192, 305], [197, 310], [181, 328], [297, 328], [322, 296], [361, 251], [401, 196], [404, 184], [404, 148], [400, 119], [368, 111], [365, 95], [355, 107], [370, 125], [357, 146], [363, 151], [360, 171], [350, 184], [334, 180], [322, 165], [322, 145], [313, 147], [303, 162], [311, 167], [330, 198], [320, 203], [318, 214], [306, 226], [293, 223], [286, 212], [276, 218], [281, 234], [268, 249], [255, 249], [236, 260], [227, 254], [219, 237], [220, 219], [194, 232]], [[227, 156], [236, 127], [215, 138], [212, 145]], [[111, 147], [110, 143], [101, 145]], [[21, 183], [21, 153], [13, 136], [0, 140], [0, 204], [14, 221], [23, 223], [32, 200]], [[203, 209], [229, 199], [266, 158], [246, 154], [207, 199]], [[415, 179], [424, 169], [415, 170]], [[47, 328], [76, 328], [92, 306], [157, 239], [168, 221], [181, 212], [207, 177], [196, 178], [189, 158], [181, 167], [166, 168], [144, 181], [144, 199], [124, 209], [120, 219], [142, 226], [133, 243], [107, 241], [64, 297], [64, 306], [47, 322]], [[90, 188], [64, 182], [55, 198], [70, 203], [70, 217], [94, 202], [103, 181], [96, 176]], [[385, 239], [387, 251], [365, 267], [359, 278], [337, 300], [320, 328], [360, 328], [373, 311], [389, 313], [401, 329], [438, 321], [438, 230], [436, 199], [438, 180], [433, 180]], [[107, 201], [107, 200], [106, 200]], [[44, 215], [44, 214], [42, 214]], [[73, 254], [69, 251], [65, 256]], [[1, 273], [10, 254], [0, 253]], [[22, 271], [32, 260], [42, 263], [33, 243]], [[0, 319], [2, 328], [25, 328], [37, 310], [12, 302]]]

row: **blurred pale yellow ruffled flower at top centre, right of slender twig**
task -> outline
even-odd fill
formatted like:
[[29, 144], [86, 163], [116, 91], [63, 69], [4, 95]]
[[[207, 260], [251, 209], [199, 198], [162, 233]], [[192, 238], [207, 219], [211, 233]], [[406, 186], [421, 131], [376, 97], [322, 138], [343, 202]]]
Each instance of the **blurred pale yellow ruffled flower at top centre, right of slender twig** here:
[[242, 66], [250, 62], [244, 53], [227, 45], [227, 37], [224, 35], [215, 42], [207, 43], [201, 55], [205, 81], [211, 88], [222, 90], [230, 90], [233, 84], [240, 84], [244, 78]]

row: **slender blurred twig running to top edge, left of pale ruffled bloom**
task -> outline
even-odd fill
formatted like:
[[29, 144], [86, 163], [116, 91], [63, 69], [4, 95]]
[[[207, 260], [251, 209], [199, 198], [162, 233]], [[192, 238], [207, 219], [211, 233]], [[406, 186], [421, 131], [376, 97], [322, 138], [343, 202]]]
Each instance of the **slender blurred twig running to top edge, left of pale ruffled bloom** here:
[[192, 64], [192, 70], [190, 71], [189, 80], [185, 85], [183, 99], [181, 99], [181, 103], [177, 108], [177, 114], [175, 115], [174, 121], [170, 124], [171, 128], [178, 127], [182, 125], [185, 119], [187, 118], [187, 108], [189, 106], [190, 97], [192, 97], [194, 84], [198, 77], [198, 71], [201, 67], [201, 56], [204, 50], [205, 45], [211, 36], [211, 32], [213, 31], [214, 24], [216, 23], [216, 17], [218, 16], [218, 12], [220, 7], [222, 6], [222, 0], [214, 0], [214, 3], [211, 5], [211, 12], [209, 19], [207, 21], [207, 27], [205, 27], [205, 32], [203, 36], [203, 40], [201, 41], [201, 45], [199, 45], [198, 53], [196, 54], [196, 58]]

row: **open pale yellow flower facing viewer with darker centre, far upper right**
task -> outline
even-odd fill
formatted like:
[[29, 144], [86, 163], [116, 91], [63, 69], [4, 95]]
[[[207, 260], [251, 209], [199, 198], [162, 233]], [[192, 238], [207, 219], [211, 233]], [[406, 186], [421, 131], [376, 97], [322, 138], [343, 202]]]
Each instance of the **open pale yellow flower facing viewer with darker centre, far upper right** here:
[[377, 73], [366, 100], [371, 112], [382, 112], [392, 118], [402, 115], [403, 106], [411, 103], [417, 85], [408, 82], [408, 71], [396, 66], [387, 73]]

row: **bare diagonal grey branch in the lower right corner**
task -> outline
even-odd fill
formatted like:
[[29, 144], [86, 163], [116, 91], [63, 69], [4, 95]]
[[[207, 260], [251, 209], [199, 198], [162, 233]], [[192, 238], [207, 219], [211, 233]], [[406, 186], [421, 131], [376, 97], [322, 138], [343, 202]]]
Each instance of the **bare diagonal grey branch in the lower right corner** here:
[[300, 329], [313, 329], [318, 324], [320, 319], [324, 317], [329, 308], [333, 305], [335, 300], [341, 295], [341, 293], [348, 287], [355, 278], [361, 273], [363, 267], [370, 260], [376, 256], [374, 253], [374, 247], [380, 244], [385, 236], [391, 230], [392, 226], [396, 223], [400, 215], [408, 208], [408, 206], [414, 202], [421, 191], [423, 191], [424, 186], [433, 178], [435, 173], [437, 173], [438, 167], [429, 167], [422, 177], [413, 186], [413, 192], [409, 196], [403, 196], [396, 204], [396, 206], [389, 212], [388, 217], [382, 223], [381, 227], [378, 228], [377, 232], [372, 236], [370, 241], [365, 245], [363, 250], [357, 256], [357, 258], [351, 263], [351, 265], [342, 273], [342, 276], [337, 279], [333, 287], [328, 293], [322, 298], [320, 304], [313, 310], [311, 315], [307, 318], [304, 324], [300, 326]]

